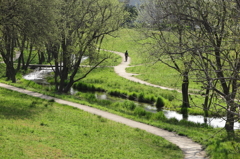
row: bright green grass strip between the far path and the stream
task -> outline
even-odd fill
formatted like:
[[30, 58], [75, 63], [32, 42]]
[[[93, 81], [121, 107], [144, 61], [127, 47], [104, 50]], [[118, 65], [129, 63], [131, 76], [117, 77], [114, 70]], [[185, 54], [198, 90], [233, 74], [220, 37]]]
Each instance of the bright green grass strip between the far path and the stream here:
[[[94, 85], [95, 87], [100, 87], [107, 92], [118, 91], [126, 92], [128, 96], [135, 93], [136, 95], [144, 94], [144, 96], [163, 97], [166, 100], [165, 109], [176, 110], [180, 112], [181, 110], [181, 93], [176, 91], [162, 90], [159, 88], [149, 87], [136, 82], [129, 81], [125, 78], [117, 76], [113, 68], [97, 68], [87, 78], [81, 80], [81, 82]], [[191, 114], [202, 114], [201, 103], [203, 97], [197, 95], [191, 95], [192, 101], [197, 103], [200, 107], [192, 107], [190, 109]], [[193, 103], [191, 103], [193, 105]], [[214, 111], [209, 113], [210, 115], [215, 115]]]

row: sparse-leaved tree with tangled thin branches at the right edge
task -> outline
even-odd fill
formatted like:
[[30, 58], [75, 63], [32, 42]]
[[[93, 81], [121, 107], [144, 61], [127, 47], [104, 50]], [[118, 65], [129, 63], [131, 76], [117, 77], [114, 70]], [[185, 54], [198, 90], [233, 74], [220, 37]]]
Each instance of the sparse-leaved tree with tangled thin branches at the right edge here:
[[[209, 97], [211, 91], [212, 97], [219, 101], [213, 104], [225, 110], [225, 129], [229, 135], [234, 132], [234, 121], [239, 119], [237, 95], [240, 36], [237, 2], [171, 0], [164, 3], [168, 12], [163, 16], [177, 19], [179, 22], [175, 25], [180, 27], [182, 24], [190, 26], [190, 29], [186, 30], [188, 32], [184, 33], [188, 36], [188, 45], [181, 46], [181, 49], [190, 50], [190, 56], [194, 59], [193, 69], [199, 72], [198, 81], [202, 82], [206, 89], [206, 97]], [[225, 104], [222, 104], [220, 99]]]

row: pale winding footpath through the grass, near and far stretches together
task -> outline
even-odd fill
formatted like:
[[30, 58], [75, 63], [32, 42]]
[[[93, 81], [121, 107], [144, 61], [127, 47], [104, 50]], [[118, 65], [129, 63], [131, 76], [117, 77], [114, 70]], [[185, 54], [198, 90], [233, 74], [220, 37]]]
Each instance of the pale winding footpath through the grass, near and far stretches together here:
[[[111, 51], [111, 52], [120, 55], [124, 59], [124, 54], [123, 53], [115, 52], [115, 51]], [[126, 79], [129, 79], [131, 81], [139, 82], [141, 84], [146, 84], [146, 85], [150, 85], [150, 86], [153, 86], [153, 87], [159, 87], [161, 89], [174, 90], [174, 89], [167, 88], [167, 87], [161, 87], [161, 86], [153, 85], [153, 84], [147, 83], [145, 81], [139, 80], [135, 77], [132, 77], [134, 74], [127, 73], [125, 71], [126, 67], [128, 67], [128, 65], [130, 64], [130, 60], [131, 60], [130, 58], [128, 58], [127, 62], [125, 62], [123, 60], [120, 65], [114, 67], [115, 72], [119, 76], [122, 76], [122, 77], [124, 77]], [[127, 119], [127, 118], [124, 118], [124, 117], [121, 117], [121, 116], [118, 116], [118, 115], [115, 115], [115, 114], [112, 114], [112, 113], [108, 113], [108, 112], [105, 112], [105, 111], [102, 111], [102, 110], [99, 110], [99, 109], [96, 109], [96, 108], [93, 108], [93, 107], [89, 107], [89, 106], [77, 104], [77, 103], [74, 103], [74, 102], [69, 102], [69, 101], [66, 101], [66, 100], [46, 96], [46, 95], [43, 95], [43, 94], [40, 94], [40, 93], [32, 92], [32, 91], [21, 89], [21, 88], [16, 88], [16, 87], [6, 85], [6, 84], [3, 84], [3, 83], [0, 83], [0, 87], [10, 89], [10, 90], [13, 90], [13, 91], [17, 91], [17, 92], [21, 92], [21, 93], [28, 94], [28, 95], [38, 97], [38, 98], [42, 98], [42, 99], [47, 99], [47, 100], [54, 99], [55, 102], [57, 102], [57, 103], [69, 105], [69, 106], [72, 106], [72, 107], [75, 107], [75, 108], [78, 108], [78, 109], [82, 109], [83, 111], [102, 116], [102, 117], [107, 118], [109, 120], [113, 120], [113, 121], [128, 125], [128, 126], [133, 127], [133, 128], [139, 128], [139, 129], [145, 130], [149, 133], [161, 136], [164, 139], [166, 139], [166, 140], [172, 142], [173, 144], [179, 146], [184, 153], [184, 158], [185, 159], [205, 159], [206, 158], [205, 157], [206, 153], [202, 149], [202, 146], [200, 144], [193, 142], [191, 139], [189, 139], [187, 137], [179, 136], [174, 132], [168, 132], [166, 130], [163, 130], [163, 129], [160, 129], [160, 128], [157, 128], [157, 127], [154, 127], [154, 126], [150, 126], [150, 125], [147, 125], [147, 124], [144, 124], [144, 123], [136, 122], [136, 121], [133, 121], [133, 120], [130, 120], [130, 119]]]

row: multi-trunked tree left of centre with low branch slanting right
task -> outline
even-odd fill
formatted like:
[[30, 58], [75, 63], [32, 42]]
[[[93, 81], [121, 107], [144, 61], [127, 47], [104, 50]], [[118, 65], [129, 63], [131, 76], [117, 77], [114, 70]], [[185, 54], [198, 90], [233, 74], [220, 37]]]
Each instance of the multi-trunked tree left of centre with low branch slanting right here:
[[[69, 0], [61, 1], [58, 7], [58, 41], [48, 41], [47, 45], [55, 61], [56, 90], [66, 93], [75, 82], [107, 59], [98, 59], [100, 50], [97, 48], [100, 48], [104, 35], [119, 29], [125, 11], [117, 0]], [[93, 67], [75, 79], [76, 74], [81, 73], [79, 66], [86, 56]]]

